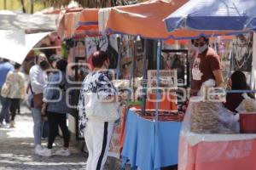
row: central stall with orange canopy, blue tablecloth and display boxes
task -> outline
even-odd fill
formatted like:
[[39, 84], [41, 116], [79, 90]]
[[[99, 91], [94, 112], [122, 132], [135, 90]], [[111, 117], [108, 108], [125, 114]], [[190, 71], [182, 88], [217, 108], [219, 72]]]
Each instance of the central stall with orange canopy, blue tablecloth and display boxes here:
[[[184, 2], [177, 1], [171, 4], [164, 1], [153, 1], [111, 8], [102, 13], [100, 10], [99, 16], [104, 15], [107, 20], [100, 20], [99, 25], [107, 33], [163, 39], [168, 35], [161, 19], [170, 12], [170, 9], [174, 11]], [[151, 22], [154, 22], [155, 25], [150, 24]], [[160, 71], [160, 42], [158, 42], [156, 53], [157, 65], [154, 65], [156, 70], [148, 71], [147, 50], [147, 40], [143, 39], [142, 82], [145, 82], [146, 77], [148, 77], [148, 82], [141, 88], [143, 92], [148, 87], [148, 89], [152, 89], [152, 93], [150, 90], [146, 90], [147, 97], [142, 93], [141, 105], [136, 106], [137, 109], [131, 108], [126, 115], [125, 139], [121, 156], [123, 165], [128, 162], [131, 167], [160, 169], [160, 167], [177, 164], [178, 134], [183, 114], [179, 114], [177, 111], [175, 94], [158, 91], [159, 87], [162, 89], [177, 88], [177, 72]], [[131, 72], [131, 74], [133, 73]], [[133, 106], [131, 105], [131, 107]]]

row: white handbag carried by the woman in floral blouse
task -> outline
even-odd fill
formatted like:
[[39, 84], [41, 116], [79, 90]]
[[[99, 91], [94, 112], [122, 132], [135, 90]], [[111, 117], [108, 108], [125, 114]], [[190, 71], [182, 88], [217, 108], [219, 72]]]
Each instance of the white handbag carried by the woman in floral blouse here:
[[102, 122], [115, 122], [119, 119], [119, 102], [102, 102], [96, 93], [84, 94], [86, 117]]

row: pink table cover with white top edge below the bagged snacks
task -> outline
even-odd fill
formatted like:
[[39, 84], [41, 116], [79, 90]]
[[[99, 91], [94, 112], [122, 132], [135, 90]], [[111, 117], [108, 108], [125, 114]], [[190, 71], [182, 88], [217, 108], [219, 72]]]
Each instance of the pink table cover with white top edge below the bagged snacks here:
[[255, 134], [181, 133], [179, 170], [253, 170], [255, 158]]

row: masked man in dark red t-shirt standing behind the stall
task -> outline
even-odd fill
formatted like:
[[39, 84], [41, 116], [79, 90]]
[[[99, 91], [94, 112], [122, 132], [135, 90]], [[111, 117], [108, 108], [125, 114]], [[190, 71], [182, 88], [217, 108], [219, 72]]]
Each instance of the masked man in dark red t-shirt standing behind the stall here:
[[195, 50], [198, 52], [192, 67], [191, 94], [197, 95], [203, 82], [209, 79], [215, 81], [219, 87], [223, 82], [220, 57], [209, 47], [207, 37], [199, 37], [192, 41]]

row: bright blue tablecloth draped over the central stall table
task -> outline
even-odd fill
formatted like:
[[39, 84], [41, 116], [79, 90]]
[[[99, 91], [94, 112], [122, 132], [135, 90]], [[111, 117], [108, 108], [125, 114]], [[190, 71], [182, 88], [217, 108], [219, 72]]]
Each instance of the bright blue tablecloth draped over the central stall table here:
[[[177, 164], [180, 122], [159, 122], [158, 136], [154, 139], [154, 122], [129, 111], [125, 125], [123, 163], [142, 170], [160, 169]], [[155, 144], [154, 144], [155, 143]], [[156, 148], [154, 148], [156, 147]]]

